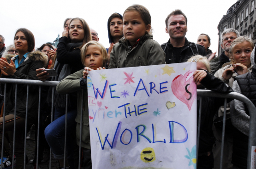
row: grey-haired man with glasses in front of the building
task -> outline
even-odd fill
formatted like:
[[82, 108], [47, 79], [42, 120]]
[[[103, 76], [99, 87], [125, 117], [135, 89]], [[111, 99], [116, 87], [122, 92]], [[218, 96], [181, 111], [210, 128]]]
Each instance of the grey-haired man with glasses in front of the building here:
[[[236, 29], [229, 28], [222, 32], [221, 34], [221, 48], [224, 50], [219, 57], [213, 61], [219, 62], [219, 68], [222, 67], [224, 63], [230, 62], [230, 58], [227, 56], [230, 44], [233, 40], [237, 39], [240, 36], [239, 32]], [[218, 69], [219, 69], [218, 68]]]

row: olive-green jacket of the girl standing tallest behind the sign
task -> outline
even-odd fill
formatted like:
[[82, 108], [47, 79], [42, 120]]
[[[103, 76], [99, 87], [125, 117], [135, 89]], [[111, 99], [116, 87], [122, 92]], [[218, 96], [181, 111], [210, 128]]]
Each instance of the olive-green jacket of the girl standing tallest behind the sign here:
[[128, 68], [165, 64], [165, 52], [153, 36], [145, 34], [135, 47], [131, 47], [123, 37], [110, 53], [108, 68]]

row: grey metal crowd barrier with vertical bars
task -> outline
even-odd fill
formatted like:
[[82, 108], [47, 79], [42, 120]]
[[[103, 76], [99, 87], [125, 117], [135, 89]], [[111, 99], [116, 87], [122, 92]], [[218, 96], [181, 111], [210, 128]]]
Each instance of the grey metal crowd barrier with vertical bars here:
[[[27, 100], [28, 100], [28, 94], [29, 94], [29, 85], [39, 85], [39, 107], [38, 107], [38, 128], [37, 128], [37, 156], [36, 156], [36, 169], [38, 169], [38, 153], [39, 153], [39, 123], [40, 123], [40, 103], [41, 103], [41, 86], [57, 86], [59, 82], [53, 82], [53, 81], [39, 81], [39, 80], [25, 80], [25, 79], [0, 79], [0, 83], [5, 84], [5, 90], [4, 90], [4, 105], [6, 104], [6, 84], [12, 83], [16, 84], [15, 88], [15, 113], [14, 117], [16, 117], [16, 102], [17, 102], [17, 84], [27, 84]], [[83, 93], [83, 92], [82, 92]], [[247, 158], [247, 169], [251, 169], [251, 147], [256, 146], [256, 107], [254, 104], [244, 95], [232, 92], [229, 94], [221, 94], [216, 93], [210, 90], [197, 90], [197, 96], [208, 96], [208, 97], [218, 97], [218, 98], [225, 98], [224, 103], [224, 117], [223, 117], [223, 130], [222, 130], [222, 142], [221, 142], [221, 156], [220, 156], [220, 169], [222, 169], [222, 159], [223, 159], [223, 148], [224, 148], [224, 136], [225, 136], [225, 125], [226, 125], [226, 104], [227, 104], [227, 98], [231, 99], [237, 99], [239, 101], [244, 102], [250, 112], [250, 133], [249, 133], [249, 143], [248, 143], [248, 158]], [[67, 98], [67, 95], [66, 95]], [[53, 105], [53, 99], [54, 99], [54, 88], [52, 89], [52, 111], [51, 111], [51, 122], [53, 121], [53, 112], [54, 112], [54, 105]], [[83, 101], [83, 94], [82, 94], [82, 101]], [[82, 105], [83, 106], [83, 105]], [[81, 106], [81, 121], [80, 124], [82, 124], [82, 117], [83, 117], [83, 107]], [[24, 169], [26, 168], [26, 135], [27, 135], [27, 110], [28, 107], [28, 101], [26, 102], [26, 121], [25, 121], [25, 140], [24, 140]], [[199, 135], [200, 135], [200, 125], [201, 125], [201, 110], [202, 107], [202, 97], [200, 98], [200, 107], [199, 107], [199, 118], [198, 118], [198, 135], [197, 135], [197, 150], [198, 152], [198, 145], [199, 145]], [[5, 106], [3, 110], [3, 121], [5, 121]], [[12, 163], [14, 163], [14, 149], [15, 149], [15, 130], [16, 130], [16, 118], [14, 118], [14, 135], [13, 135], [13, 155], [12, 155]], [[66, 109], [65, 109], [65, 149], [64, 152], [66, 152], [66, 130], [67, 130], [67, 99], [66, 99]], [[3, 123], [3, 130], [2, 130], [2, 150], [1, 150], [1, 164], [3, 163], [3, 150], [4, 150], [4, 132], [5, 132], [5, 123]], [[80, 169], [81, 165], [81, 139], [82, 139], [82, 125], [80, 125], [80, 143], [79, 143], [79, 165], [78, 169]], [[51, 169], [51, 151], [50, 151], [50, 159], [49, 159], [49, 169]], [[198, 154], [198, 153], [197, 153]], [[197, 158], [197, 157], [196, 157]], [[64, 153], [64, 159], [66, 159], [66, 155]], [[0, 166], [0, 169], [2, 169], [2, 165]], [[14, 165], [12, 165], [12, 169], [14, 169]], [[65, 160], [64, 160], [64, 169], [65, 169]]]

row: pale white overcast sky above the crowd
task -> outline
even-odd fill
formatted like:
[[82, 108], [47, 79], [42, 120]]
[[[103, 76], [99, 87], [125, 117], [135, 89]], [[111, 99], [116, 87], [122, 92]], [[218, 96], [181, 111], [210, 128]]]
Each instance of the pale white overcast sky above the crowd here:
[[151, 14], [153, 38], [161, 45], [167, 42], [165, 19], [175, 10], [181, 9], [188, 18], [186, 38], [196, 42], [199, 34], [208, 34], [211, 38], [210, 49], [218, 48], [217, 26], [226, 11], [237, 0], [1, 0], [0, 34], [5, 44], [13, 43], [18, 28], [28, 28], [35, 36], [36, 47], [53, 42], [62, 34], [63, 22], [67, 17], [81, 17], [89, 27], [99, 34], [99, 42], [109, 47], [107, 19], [118, 12], [123, 15], [125, 9], [133, 4], [145, 6]]

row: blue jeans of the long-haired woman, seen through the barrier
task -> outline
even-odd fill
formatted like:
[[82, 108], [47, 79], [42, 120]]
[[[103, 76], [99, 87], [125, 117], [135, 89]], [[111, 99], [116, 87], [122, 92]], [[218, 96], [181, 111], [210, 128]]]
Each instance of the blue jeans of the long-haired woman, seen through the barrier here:
[[[74, 149], [76, 145], [76, 121], [77, 107], [68, 109], [67, 111], [67, 136], [66, 151], [67, 162], [71, 169], [76, 169], [76, 159]], [[65, 108], [55, 108], [54, 121], [44, 130], [45, 138], [52, 149], [54, 158], [64, 158], [64, 142], [65, 142]], [[63, 166], [62, 166], [63, 167]]]

